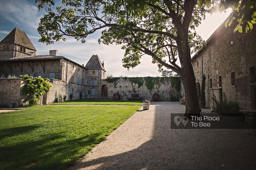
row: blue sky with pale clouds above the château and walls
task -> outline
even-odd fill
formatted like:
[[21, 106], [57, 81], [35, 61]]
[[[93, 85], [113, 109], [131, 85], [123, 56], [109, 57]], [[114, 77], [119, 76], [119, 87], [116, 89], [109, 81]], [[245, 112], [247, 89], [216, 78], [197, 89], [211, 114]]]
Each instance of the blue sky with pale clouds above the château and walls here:
[[[197, 33], [206, 41], [230, 13], [231, 10], [228, 9], [226, 13], [207, 14], [206, 19], [201, 21], [197, 27]], [[58, 50], [58, 55], [86, 65], [91, 56], [97, 54], [101, 62], [104, 61], [107, 74], [112, 74], [115, 77], [120, 75], [127, 77], [161, 76], [157, 65], [152, 63], [152, 59], [148, 55], [142, 56], [141, 64], [128, 71], [123, 67], [124, 51], [121, 49], [121, 45], [99, 44], [100, 31], [88, 36], [85, 43], [70, 37], [67, 37], [65, 42], [55, 42], [50, 45], [38, 42], [40, 35], [37, 33], [37, 26], [43, 14], [43, 11], [38, 12], [34, 0], [0, 0], [0, 41], [13, 30], [17, 23], [17, 28], [24, 29], [37, 49], [37, 55], [48, 55], [49, 50]]]

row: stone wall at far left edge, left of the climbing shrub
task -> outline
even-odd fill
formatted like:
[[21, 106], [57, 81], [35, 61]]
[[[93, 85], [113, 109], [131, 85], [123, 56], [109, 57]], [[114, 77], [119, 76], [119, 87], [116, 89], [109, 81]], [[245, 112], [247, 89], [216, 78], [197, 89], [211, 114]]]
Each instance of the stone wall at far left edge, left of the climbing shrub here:
[[23, 104], [26, 94], [23, 91], [24, 79], [0, 79], [0, 107], [13, 108]]

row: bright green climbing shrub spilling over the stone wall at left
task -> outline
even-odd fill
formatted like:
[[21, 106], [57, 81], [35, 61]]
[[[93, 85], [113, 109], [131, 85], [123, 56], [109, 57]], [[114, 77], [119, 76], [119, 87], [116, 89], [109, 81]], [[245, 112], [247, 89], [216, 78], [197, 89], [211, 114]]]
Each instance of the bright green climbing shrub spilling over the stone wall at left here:
[[41, 96], [45, 95], [48, 91], [50, 91], [50, 88], [52, 85], [49, 83], [48, 78], [41, 78], [39, 77], [32, 77], [26, 75], [20, 75], [19, 78], [25, 79], [27, 82], [25, 86], [25, 91], [29, 95], [28, 104], [26, 106], [33, 106], [37, 105], [39, 99]]

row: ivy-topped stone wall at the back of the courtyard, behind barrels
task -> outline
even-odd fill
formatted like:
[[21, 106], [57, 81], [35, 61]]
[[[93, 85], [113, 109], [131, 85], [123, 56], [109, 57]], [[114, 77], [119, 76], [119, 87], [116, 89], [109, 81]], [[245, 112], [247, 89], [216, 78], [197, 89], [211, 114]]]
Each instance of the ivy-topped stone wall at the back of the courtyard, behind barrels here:
[[[159, 100], [171, 100], [181, 96], [181, 83], [179, 77], [125, 77], [112, 80], [101, 80], [101, 87], [107, 86], [107, 96], [112, 98], [114, 93], [120, 94], [121, 100], [128, 100], [132, 94], [139, 94], [143, 99], [153, 100], [157, 93]], [[103, 91], [101, 91], [101, 97]]]

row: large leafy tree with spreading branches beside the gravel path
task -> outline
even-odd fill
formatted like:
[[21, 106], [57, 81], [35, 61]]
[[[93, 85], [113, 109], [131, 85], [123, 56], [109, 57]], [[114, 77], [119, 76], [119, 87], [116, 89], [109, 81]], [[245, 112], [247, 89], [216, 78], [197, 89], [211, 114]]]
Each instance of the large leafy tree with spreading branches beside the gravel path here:
[[85, 42], [89, 34], [100, 30], [100, 43], [123, 45], [125, 68], [137, 66], [147, 54], [159, 70], [164, 66], [178, 73], [186, 95], [185, 116], [200, 116], [191, 53], [204, 45], [195, 28], [215, 1], [62, 0], [56, 8], [53, 0], [36, 2], [39, 10], [47, 12], [37, 29], [40, 42], [65, 41], [65, 36]]

